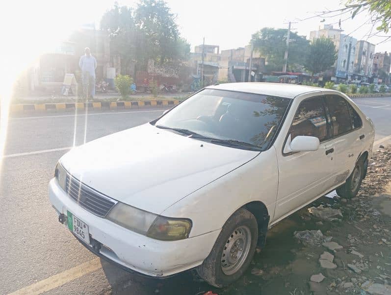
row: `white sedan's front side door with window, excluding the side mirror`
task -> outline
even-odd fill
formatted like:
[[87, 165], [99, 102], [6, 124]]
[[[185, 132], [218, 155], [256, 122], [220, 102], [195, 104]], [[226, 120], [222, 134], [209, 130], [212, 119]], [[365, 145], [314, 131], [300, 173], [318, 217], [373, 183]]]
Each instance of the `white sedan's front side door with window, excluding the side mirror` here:
[[[305, 206], [331, 184], [335, 172], [330, 123], [324, 96], [306, 98], [298, 105], [290, 123], [284, 149], [279, 152], [279, 184], [274, 220], [278, 221]], [[320, 146], [315, 151], [289, 152], [290, 141], [298, 135], [315, 136]]]

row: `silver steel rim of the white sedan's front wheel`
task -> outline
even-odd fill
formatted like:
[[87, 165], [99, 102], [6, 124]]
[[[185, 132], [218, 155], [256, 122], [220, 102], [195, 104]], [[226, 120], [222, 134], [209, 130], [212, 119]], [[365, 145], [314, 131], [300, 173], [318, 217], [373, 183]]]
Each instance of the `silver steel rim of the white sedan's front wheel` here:
[[232, 275], [243, 266], [251, 247], [251, 231], [247, 226], [235, 229], [229, 236], [221, 254], [221, 268]]

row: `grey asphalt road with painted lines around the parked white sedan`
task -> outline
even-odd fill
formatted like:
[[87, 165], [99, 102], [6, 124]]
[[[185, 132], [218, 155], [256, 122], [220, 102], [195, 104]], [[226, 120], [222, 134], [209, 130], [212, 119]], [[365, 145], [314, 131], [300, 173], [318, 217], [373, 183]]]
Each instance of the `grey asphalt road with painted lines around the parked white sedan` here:
[[[391, 97], [355, 101], [375, 123], [376, 140], [390, 137]], [[66, 148], [161, 113], [162, 109], [147, 109], [10, 118], [0, 162], [0, 294], [23, 294], [21, 290], [33, 284], [47, 294], [196, 294], [210, 289], [194, 283], [188, 272], [161, 281], [100, 261], [60, 226], [48, 200], [48, 182]]]

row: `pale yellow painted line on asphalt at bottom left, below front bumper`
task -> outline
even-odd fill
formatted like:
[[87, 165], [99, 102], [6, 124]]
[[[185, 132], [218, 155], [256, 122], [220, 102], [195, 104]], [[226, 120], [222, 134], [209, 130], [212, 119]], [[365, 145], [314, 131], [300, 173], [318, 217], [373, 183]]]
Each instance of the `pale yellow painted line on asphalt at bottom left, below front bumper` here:
[[82, 277], [83, 275], [98, 270], [101, 267], [101, 260], [99, 258], [94, 258], [91, 261], [82, 263], [79, 266], [75, 266], [58, 274], [52, 275], [49, 278], [46, 278], [25, 288], [19, 289], [18, 291], [10, 293], [9, 295], [42, 294], [54, 288], [60, 287], [68, 282], [71, 282], [79, 277]]

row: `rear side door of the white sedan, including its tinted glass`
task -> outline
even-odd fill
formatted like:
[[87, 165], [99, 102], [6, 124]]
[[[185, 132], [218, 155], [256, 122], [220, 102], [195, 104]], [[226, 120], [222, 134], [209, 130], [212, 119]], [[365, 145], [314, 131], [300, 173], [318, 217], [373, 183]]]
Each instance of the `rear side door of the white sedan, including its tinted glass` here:
[[350, 103], [338, 94], [326, 95], [326, 105], [332, 121], [332, 142], [336, 163], [334, 184], [340, 184], [351, 174], [362, 149], [363, 122]]

